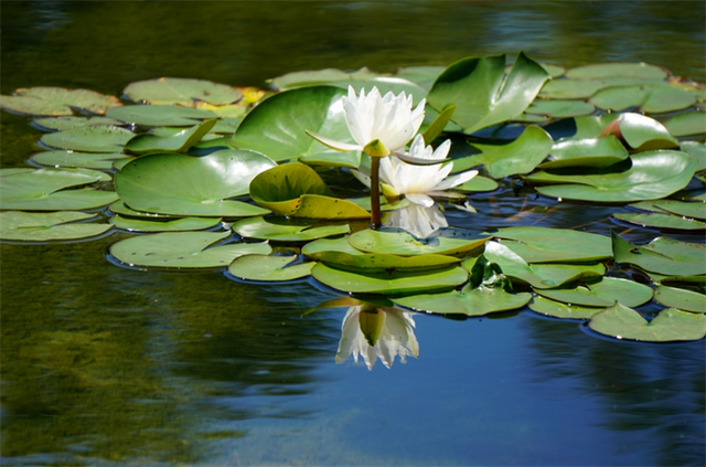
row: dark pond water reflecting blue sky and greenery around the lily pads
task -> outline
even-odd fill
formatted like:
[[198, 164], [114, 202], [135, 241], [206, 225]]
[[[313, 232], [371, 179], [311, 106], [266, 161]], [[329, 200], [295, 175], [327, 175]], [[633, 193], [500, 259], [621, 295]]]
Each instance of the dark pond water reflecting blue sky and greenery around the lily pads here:
[[[265, 86], [325, 67], [388, 72], [524, 50], [560, 65], [648, 62], [706, 81], [702, 0], [28, 1], [0, 8], [0, 94], [197, 77]], [[0, 113], [0, 167], [42, 131]], [[475, 231], [618, 229], [622, 206], [512, 183], [473, 194]], [[117, 267], [114, 233], [0, 244], [0, 465], [697, 466], [706, 341], [635, 344], [528, 309], [415, 315], [419, 358], [335, 363], [346, 308], [313, 282]], [[703, 241], [696, 235], [671, 235]]]

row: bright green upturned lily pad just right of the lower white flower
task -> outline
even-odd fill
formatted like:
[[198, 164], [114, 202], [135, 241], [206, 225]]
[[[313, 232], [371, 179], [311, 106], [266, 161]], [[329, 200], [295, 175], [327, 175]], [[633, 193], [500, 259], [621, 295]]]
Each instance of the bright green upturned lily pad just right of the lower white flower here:
[[545, 130], [531, 125], [520, 138], [506, 145], [472, 145], [481, 153], [456, 159], [452, 172], [482, 164], [494, 179], [528, 173], [547, 157], [552, 142]]

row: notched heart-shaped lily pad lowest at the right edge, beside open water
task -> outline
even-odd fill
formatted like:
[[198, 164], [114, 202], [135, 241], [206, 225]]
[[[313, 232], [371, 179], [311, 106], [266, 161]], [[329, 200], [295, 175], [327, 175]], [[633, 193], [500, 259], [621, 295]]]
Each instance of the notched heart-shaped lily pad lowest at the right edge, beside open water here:
[[652, 321], [620, 304], [593, 315], [588, 326], [596, 332], [617, 339], [646, 342], [698, 340], [706, 336], [706, 315], [667, 308]]

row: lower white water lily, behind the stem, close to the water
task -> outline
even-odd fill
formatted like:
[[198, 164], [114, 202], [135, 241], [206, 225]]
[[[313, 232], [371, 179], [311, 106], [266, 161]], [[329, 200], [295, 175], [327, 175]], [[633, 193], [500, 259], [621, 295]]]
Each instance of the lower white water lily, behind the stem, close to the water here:
[[[409, 148], [414, 159], [427, 161], [445, 160], [451, 148], [451, 141], [443, 141], [436, 150], [424, 145], [421, 135], [417, 135]], [[379, 163], [379, 177], [385, 183], [383, 192], [387, 197], [405, 195], [407, 200], [426, 208], [434, 205], [432, 195], [448, 195], [443, 190], [466, 183], [478, 174], [478, 170], [469, 170], [448, 177], [453, 170], [453, 162], [417, 166], [404, 162], [398, 158], [387, 157]], [[371, 179], [359, 171], [353, 171], [361, 182], [371, 187]]]

